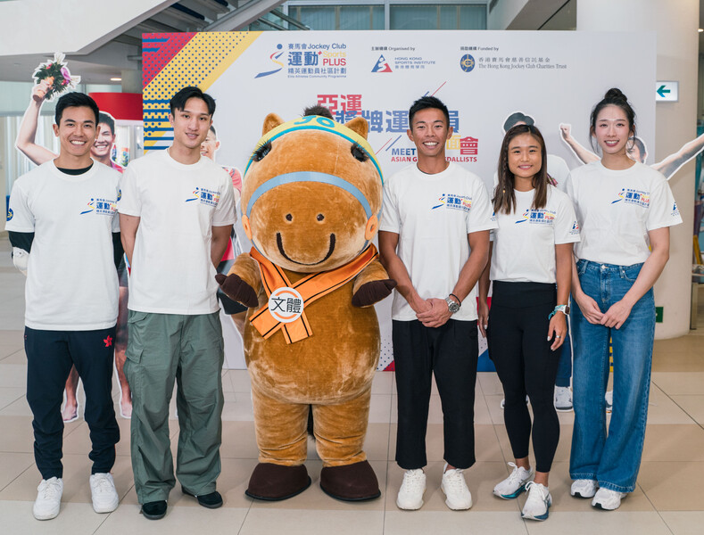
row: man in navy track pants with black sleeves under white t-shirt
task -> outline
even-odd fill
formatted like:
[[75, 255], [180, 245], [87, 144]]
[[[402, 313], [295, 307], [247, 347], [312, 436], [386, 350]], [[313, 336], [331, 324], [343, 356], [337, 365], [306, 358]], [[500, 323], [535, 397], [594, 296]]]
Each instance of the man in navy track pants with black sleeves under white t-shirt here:
[[93, 461], [96, 513], [119, 497], [112, 481], [120, 428], [112, 406], [112, 352], [118, 314], [115, 250], [120, 174], [91, 160], [98, 107], [82, 93], [56, 103], [54, 135], [61, 152], [18, 178], [5, 229], [14, 262], [26, 269], [27, 401], [34, 420], [34, 457], [42, 474], [33, 514], [54, 518], [63, 492], [63, 385], [76, 366], [86, 391], [85, 418]]

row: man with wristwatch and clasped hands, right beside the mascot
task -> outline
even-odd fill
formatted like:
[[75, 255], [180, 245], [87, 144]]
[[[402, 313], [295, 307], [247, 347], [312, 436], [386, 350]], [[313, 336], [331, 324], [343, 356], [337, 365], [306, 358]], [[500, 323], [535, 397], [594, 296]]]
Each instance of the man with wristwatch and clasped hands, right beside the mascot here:
[[384, 187], [381, 261], [393, 293], [393, 358], [398, 390], [396, 462], [406, 470], [396, 505], [418, 509], [426, 490], [426, 431], [432, 374], [443, 404], [442, 490], [451, 509], [472, 497], [462, 470], [475, 463], [474, 393], [478, 344], [476, 281], [496, 227], [484, 183], [445, 159], [447, 107], [424, 96], [410, 107], [408, 136], [418, 164]]

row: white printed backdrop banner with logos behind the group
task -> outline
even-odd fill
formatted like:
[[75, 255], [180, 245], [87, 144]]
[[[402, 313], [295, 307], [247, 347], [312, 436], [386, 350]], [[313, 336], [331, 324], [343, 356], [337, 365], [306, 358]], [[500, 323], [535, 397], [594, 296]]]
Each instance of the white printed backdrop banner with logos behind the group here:
[[[204, 32], [145, 34], [143, 41], [145, 151], [163, 150], [173, 139], [170, 97], [200, 86], [217, 101], [216, 159], [240, 169], [267, 113], [290, 120], [320, 103], [341, 122], [359, 115], [369, 121], [369, 143], [390, 176], [416, 159], [406, 136], [410, 104], [435, 95], [454, 128], [448, 159], [492, 188], [511, 115], [534, 119], [548, 152], [573, 169], [581, 161], [563, 136], [592, 150], [589, 114], [609, 87], [634, 104], [638, 135], [655, 152], [654, 32]], [[238, 235], [246, 251], [244, 233]], [[390, 309], [389, 300], [377, 306], [380, 369], [393, 369]], [[232, 325], [226, 344], [228, 366], [244, 367]], [[485, 343], [480, 353], [482, 360]]]

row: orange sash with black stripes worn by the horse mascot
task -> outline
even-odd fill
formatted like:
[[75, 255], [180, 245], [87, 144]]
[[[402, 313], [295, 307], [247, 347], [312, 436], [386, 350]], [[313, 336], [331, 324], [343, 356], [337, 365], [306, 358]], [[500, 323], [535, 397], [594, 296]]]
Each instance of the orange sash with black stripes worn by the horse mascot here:
[[[259, 262], [261, 271], [261, 281], [264, 283], [264, 290], [267, 292], [267, 297], [275, 292], [278, 288], [289, 287], [301, 294], [302, 309], [305, 309], [314, 300], [317, 300], [330, 292], [334, 292], [340, 286], [350, 282], [360, 271], [366, 268], [370, 262], [377, 259], [379, 253], [374, 245], [369, 245], [367, 249], [362, 251], [357, 258], [353, 259], [348, 264], [340, 268], [331, 269], [330, 271], [321, 271], [320, 273], [311, 273], [304, 276], [300, 281], [291, 284], [284, 270], [272, 264], [268, 259], [261, 256], [261, 253], [252, 248], [250, 256]], [[257, 310], [250, 322], [254, 328], [259, 331], [265, 339], [276, 333], [279, 329], [284, 333], [286, 343], [300, 342], [304, 338], [311, 336], [311, 325], [305, 317], [305, 313], [301, 314], [291, 323], [284, 323], [273, 317], [269, 310], [269, 304]]]

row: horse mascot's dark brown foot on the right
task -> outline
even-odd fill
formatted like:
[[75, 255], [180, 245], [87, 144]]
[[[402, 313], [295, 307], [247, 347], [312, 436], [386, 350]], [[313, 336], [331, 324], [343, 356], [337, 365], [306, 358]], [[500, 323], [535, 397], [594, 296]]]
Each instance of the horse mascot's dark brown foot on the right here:
[[364, 501], [381, 496], [377, 474], [369, 462], [326, 466], [320, 472], [320, 488], [343, 501]]

